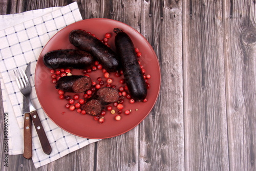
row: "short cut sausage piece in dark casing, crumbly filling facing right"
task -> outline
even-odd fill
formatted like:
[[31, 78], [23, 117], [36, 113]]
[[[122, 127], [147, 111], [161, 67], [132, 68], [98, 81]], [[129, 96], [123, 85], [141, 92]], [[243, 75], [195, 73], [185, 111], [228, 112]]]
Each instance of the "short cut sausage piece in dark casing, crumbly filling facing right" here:
[[60, 77], [55, 87], [64, 92], [82, 93], [89, 90], [91, 86], [91, 78], [82, 75], [71, 75]]

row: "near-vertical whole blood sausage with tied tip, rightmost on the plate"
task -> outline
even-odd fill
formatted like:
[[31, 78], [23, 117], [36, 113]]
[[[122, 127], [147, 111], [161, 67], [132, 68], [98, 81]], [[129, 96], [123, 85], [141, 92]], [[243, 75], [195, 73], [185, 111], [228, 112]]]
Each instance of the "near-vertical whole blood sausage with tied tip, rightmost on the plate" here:
[[146, 83], [138, 62], [133, 42], [129, 35], [115, 28], [115, 45], [120, 58], [123, 75], [131, 97], [143, 100], [147, 95]]

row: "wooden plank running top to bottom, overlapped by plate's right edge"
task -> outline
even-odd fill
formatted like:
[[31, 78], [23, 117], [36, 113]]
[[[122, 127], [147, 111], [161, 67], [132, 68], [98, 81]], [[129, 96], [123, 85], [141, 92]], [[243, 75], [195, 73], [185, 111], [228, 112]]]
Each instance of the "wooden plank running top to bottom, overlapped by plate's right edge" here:
[[161, 68], [153, 111], [140, 125], [140, 169], [184, 170], [182, 2], [143, 1], [141, 33]]

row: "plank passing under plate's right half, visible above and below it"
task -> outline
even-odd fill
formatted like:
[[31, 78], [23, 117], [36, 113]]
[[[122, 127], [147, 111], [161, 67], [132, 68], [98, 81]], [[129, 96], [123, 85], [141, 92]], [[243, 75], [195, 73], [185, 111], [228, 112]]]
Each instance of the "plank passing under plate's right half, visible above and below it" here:
[[[102, 3], [101, 16], [119, 20], [140, 31], [140, 1]], [[139, 132], [135, 129], [120, 136], [98, 142], [97, 170], [138, 170]]]

